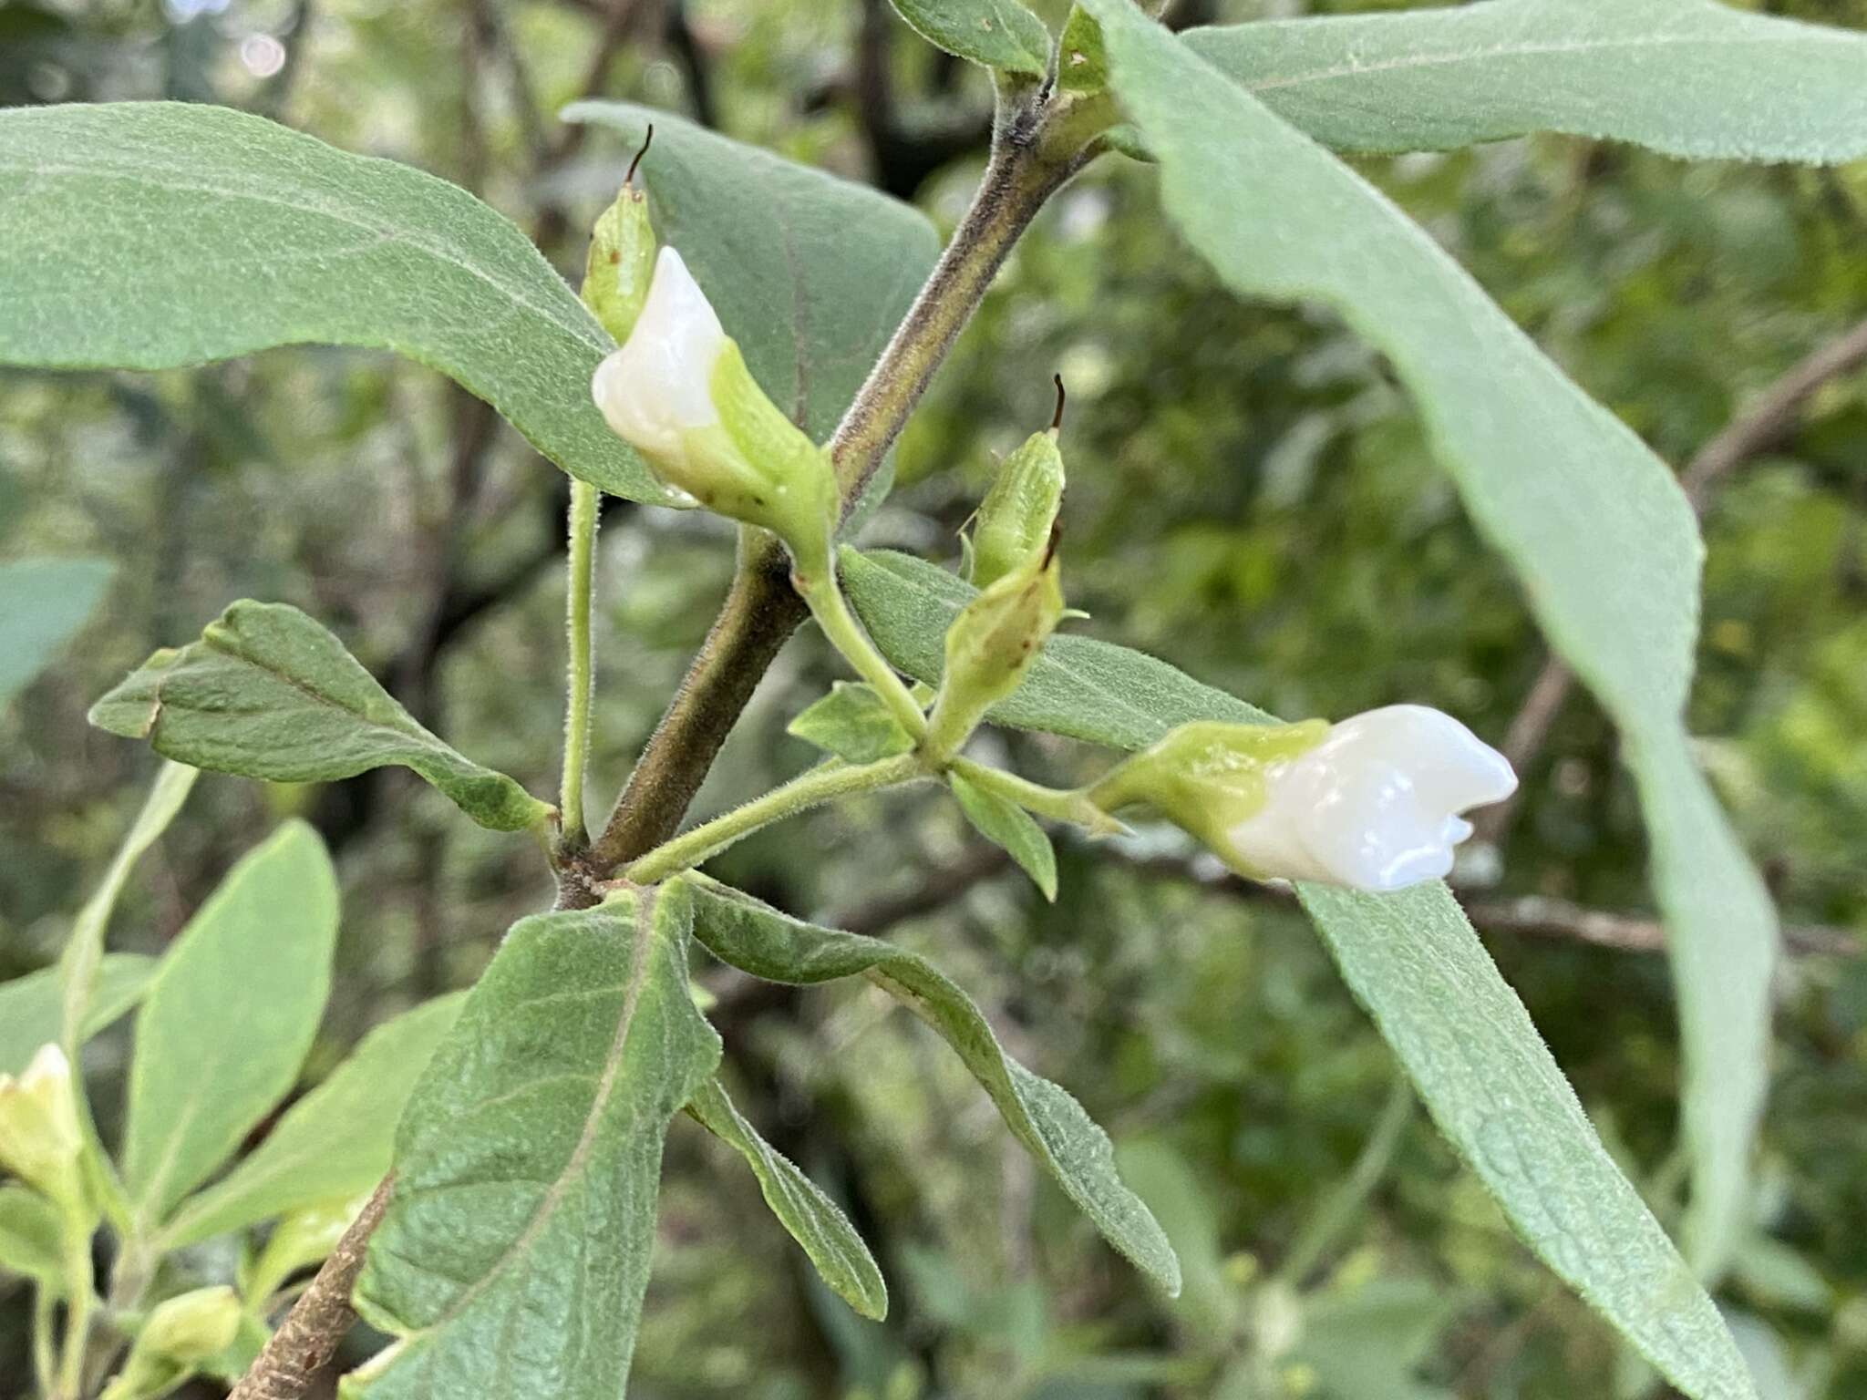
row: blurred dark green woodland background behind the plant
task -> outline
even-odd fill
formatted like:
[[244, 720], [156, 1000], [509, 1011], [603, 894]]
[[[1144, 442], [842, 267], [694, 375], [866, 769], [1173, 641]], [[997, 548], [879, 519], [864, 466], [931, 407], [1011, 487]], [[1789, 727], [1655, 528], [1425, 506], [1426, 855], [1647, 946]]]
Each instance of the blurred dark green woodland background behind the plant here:
[[[1174, 17], [1395, 7], [1182, 0]], [[1867, 0], [1746, 7], [1867, 28]], [[0, 4], [4, 105], [263, 112], [476, 190], [568, 273], [629, 155], [556, 123], [586, 93], [872, 181], [943, 226], [990, 121], [986, 78], [885, 0]], [[1538, 138], [1361, 168], [1682, 467], [1867, 315], [1867, 164], [1688, 166]], [[1673, 1219], [1673, 1004], [1615, 735], [1585, 694], [1537, 687], [1546, 650], [1380, 357], [1333, 317], [1232, 301], [1159, 217], [1148, 170], [1111, 159], [1014, 256], [913, 420], [866, 539], [956, 556], [993, 455], [1047, 422], [1053, 370], [1070, 386], [1066, 579], [1092, 614], [1083, 631], [1292, 719], [1421, 700], [1512, 749], [1522, 801], [1469, 851], [1462, 894], [1609, 1148]], [[1770, 1400], [1867, 1396], [1867, 373], [1824, 385], [1712, 478], [1692, 722], [1792, 948], [1755, 1232], [1721, 1301]], [[78, 644], [0, 715], [0, 978], [54, 956], [153, 771], [146, 749], [88, 730], [86, 704], [235, 597], [323, 618], [424, 722], [549, 791], [566, 497], [485, 405], [383, 355], [0, 371], [0, 556], [118, 567]], [[730, 562], [713, 523], [611, 502], [597, 801]], [[808, 763], [784, 722], [836, 674], [814, 635], [793, 640], [696, 810]], [[1001, 743], [1057, 780], [1100, 762]], [[370, 1025], [469, 984], [549, 898], [528, 844], [461, 821], [405, 773], [316, 790], [207, 777], [134, 877], [116, 946], [159, 948], [286, 812], [316, 821], [345, 881], [314, 1075]], [[831, 1299], [741, 1163], [678, 1127], [633, 1394], [1611, 1394], [1607, 1329], [1395, 1088], [1290, 909], [1161, 836], [1059, 853], [1046, 905], [952, 805], [889, 797], [786, 823], [719, 870], [935, 956], [1014, 1053], [1115, 1133], [1187, 1256], [1186, 1297], [1152, 1295], [1109, 1254], [905, 1015], [864, 989], [713, 969], [743, 1098], [848, 1204], [896, 1305], [874, 1325]], [[106, 1077], [116, 1034], [93, 1064]], [[0, 1376], [24, 1374], [26, 1294], [6, 1288]]]

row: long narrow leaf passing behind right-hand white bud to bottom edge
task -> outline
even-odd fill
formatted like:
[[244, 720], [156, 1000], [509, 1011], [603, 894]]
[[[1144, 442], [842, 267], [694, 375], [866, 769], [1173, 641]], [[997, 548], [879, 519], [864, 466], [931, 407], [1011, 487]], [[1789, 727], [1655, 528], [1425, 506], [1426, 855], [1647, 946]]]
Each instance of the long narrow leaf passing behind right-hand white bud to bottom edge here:
[[[932, 564], [848, 549], [842, 577], [889, 661], [935, 674], [971, 586]], [[1163, 661], [1079, 637], [1053, 637], [993, 717], [1130, 750], [1199, 719], [1279, 722]], [[1451, 890], [1301, 896], [1439, 1131], [1537, 1256], [1686, 1394], [1749, 1400], [1718, 1309], [1602, 1148]]]

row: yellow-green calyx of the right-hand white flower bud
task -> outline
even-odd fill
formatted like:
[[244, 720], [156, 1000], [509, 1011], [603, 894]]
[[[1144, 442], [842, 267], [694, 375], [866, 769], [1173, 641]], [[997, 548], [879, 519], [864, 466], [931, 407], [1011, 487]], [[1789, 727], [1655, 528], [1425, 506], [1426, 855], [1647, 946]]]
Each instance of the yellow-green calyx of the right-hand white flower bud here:
[[1182, 724], [1152, 749], [1111, 769], [1088, 790], [1088, 797], [1111, 814], [1124, 806], [1152, 806], [1223, 853], [1228, 849], [1227, 833], [1264, 808], [1270, 767], [1309, 752], [1327, 732], [1326, 719], [1301, 724]]

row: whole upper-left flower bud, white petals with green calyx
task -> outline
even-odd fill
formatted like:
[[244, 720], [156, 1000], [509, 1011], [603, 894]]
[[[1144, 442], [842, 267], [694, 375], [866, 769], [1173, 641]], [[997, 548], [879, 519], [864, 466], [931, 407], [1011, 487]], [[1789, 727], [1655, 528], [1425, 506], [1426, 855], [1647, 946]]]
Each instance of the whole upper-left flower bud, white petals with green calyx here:
[[663, 248], [642, 314], [597, 366], [596, 405], [667, 485], [777, 534], [799, 567], [829, 567], [836, 476], [745, 368], [706, 293]]

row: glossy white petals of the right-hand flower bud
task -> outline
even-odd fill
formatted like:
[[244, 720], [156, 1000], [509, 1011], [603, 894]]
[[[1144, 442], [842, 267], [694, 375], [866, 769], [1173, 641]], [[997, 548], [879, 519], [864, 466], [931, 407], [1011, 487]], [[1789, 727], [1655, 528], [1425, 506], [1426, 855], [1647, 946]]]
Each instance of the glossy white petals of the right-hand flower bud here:
[[1264, 805], [1227, 829], [1227, 855], [1262, 877], [1397, 890], [1449, 874], [1471, 834], [1462, 814], [1509, 797], [1516, 775], [1451, 715], [1387, 706], [1268, 763], [1264, 788]]

